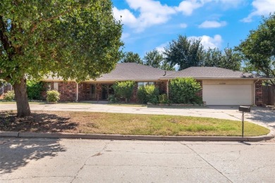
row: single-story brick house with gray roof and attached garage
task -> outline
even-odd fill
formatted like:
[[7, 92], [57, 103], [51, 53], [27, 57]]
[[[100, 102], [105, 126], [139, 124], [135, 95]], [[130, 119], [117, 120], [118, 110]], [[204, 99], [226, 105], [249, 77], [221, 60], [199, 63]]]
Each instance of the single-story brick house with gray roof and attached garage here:
[[[64, 82], [61, 78], [44, 80], [47, 89], [61, 93], [61, 101], [104, 101], [117, 81], [136, 82], [131, 101], [137, 100], [138, 87], [154, 84], [162, 93], [169, 93], [169, 80], [176, 77], [193, 77], [200, 82], [200, 95], [207, 105], [261, 105], [262, 81], [267, 78], [254, 77], [249, 73], [216, 67], [191, 67], [180, 71], [166, 71], [137, 63], [118, 63], [116, 68], [97, 80], [76, 83]], [[42, 94], [45, 96], [46, 94]]]

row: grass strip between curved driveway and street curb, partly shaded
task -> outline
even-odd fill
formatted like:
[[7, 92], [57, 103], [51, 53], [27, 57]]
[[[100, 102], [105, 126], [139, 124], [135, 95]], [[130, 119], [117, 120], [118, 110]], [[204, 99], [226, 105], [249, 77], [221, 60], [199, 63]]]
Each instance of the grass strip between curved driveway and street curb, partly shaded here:
[[[259, 136], [269, 129], [245, 122], [244, 135]], [[0, 130], [84, 134], [241, 136], [242, 122], [173, 115], [140, 115], [72, 111], [32, 111], [16, 118], [16, 111], [0, 112]]]

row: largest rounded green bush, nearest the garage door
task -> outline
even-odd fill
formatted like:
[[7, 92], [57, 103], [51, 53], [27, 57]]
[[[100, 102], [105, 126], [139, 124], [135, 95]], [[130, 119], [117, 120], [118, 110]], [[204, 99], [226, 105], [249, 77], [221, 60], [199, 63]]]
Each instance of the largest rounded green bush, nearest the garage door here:
[[191, 77], [176, 78], [169, 83], [169, 99], [173, 103], [196, 103], [200, 83]]

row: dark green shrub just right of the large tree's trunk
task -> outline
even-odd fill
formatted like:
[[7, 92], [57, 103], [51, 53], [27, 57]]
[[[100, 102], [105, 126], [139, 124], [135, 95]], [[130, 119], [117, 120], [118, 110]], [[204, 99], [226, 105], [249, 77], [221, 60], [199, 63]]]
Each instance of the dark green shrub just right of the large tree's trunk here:
[[43, 82], [27, 81], [27, 98], [30, 100], [40, 100], [43, 92]]

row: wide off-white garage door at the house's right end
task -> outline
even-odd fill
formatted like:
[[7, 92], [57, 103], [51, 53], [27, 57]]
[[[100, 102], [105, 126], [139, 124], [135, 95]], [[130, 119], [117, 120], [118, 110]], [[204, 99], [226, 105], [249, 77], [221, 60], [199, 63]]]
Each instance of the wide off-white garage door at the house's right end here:
[[252, 105], [252, 84], [203, 84], [207, 105]]

